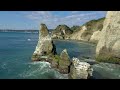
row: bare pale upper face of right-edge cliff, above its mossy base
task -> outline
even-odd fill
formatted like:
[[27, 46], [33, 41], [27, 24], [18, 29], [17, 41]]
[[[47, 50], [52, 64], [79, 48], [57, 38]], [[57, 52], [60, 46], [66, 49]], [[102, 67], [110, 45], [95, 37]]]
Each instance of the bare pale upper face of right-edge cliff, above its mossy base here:
[[120, 11], [108, 11], [101, 31], [101, 38], [96, 48], [99, 55], [102, 48], [120, 57]]

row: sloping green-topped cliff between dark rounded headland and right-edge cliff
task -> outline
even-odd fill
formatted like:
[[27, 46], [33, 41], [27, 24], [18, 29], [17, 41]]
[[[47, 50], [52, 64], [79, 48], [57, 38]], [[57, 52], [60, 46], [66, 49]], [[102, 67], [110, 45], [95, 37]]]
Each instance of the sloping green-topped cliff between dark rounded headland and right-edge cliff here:
[[[98, 40], [98, 36], [96, 37], [96, 31], [101, 31], [103, 28], [103, 21], [105, 18], [101, 18], [98, 20], [91, 20], [85, 23], [83, 26], [76, 30], [71, 36], [70, 39], [82, 40], [82, 41], [90, 41], [96, 42]], [[77, 28], [78, 29], [78, 28]], [[98, 34], [97, 32], [97, 34]], [[92, 39], [91, 39], [92, 38]], [[97, 39], [95, 39], [97, 38]]]

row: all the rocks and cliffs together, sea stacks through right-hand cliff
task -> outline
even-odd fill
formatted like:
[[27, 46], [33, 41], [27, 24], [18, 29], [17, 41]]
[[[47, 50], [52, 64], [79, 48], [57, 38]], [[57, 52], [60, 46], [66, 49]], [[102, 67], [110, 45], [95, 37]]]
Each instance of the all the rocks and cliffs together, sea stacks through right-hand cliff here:
[[[68, 74], [69, 79], [89, 79], [92, 77], [91, 64], [99, 62], [120, 64], [120, 12], [109, 11], [106, 18], [92, 20], [77, 30], [71, 31], [66, 25], [59, 25], [49, 35], [47, 26], [41, 24], [39, 40], [33, 53], [33, 61], [46, 61], [51, 67], [62, 74]], [[96, 45], [96, 60], [70, 60], [67, 50], [60, 55], [56, 52], [54, 40], [82, 41]], [[90, 64], [91, 63], [91, 64]]]

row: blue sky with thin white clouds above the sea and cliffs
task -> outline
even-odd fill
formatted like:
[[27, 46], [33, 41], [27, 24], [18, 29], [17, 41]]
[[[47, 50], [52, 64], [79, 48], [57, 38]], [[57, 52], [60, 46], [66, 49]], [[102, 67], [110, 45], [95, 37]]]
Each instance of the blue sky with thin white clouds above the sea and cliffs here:
[[69, 27], [105, 17], [106, 11], [0, 11], [0, 29], [35, 29], [41, 23], [49, 29], [65, 24]]

